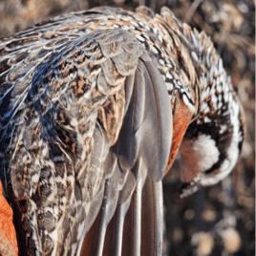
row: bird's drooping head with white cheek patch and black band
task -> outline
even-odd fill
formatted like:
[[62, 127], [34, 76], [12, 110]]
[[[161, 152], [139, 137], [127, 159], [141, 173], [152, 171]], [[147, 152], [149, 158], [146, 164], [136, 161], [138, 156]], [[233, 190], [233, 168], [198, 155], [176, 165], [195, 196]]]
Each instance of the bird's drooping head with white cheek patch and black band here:
[[[229, 79], [228, 79], [229, 80]], [[232, 171], [245, 139], [243, 108], [230, 85], [205, 96], [181, 142], [181, 197], [216, 184]]]

